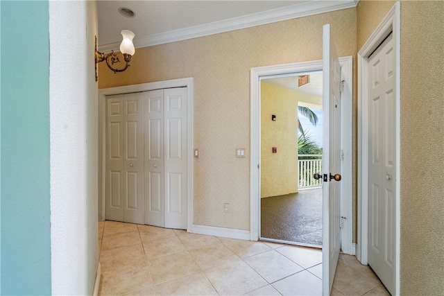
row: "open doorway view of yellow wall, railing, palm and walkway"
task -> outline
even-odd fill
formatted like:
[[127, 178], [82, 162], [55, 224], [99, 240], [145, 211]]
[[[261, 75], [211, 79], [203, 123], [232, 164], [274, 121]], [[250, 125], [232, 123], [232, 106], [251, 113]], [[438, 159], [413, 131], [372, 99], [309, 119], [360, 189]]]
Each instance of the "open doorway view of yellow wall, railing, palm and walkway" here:
[[321, 71], [264, 76], [261, 229], [264, 241], [322, 247]]

